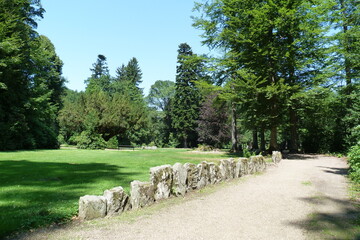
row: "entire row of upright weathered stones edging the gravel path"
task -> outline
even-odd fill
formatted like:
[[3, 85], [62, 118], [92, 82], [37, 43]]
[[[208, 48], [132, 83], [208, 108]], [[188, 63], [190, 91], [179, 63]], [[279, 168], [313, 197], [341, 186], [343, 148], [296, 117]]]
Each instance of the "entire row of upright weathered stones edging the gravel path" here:
[[[280, 152], [273, 152], [272, 160], [277, 165], [282, 159]], [[263, 172], [266, 162], [263, 156], [224, 159], [213, 162], [175, 163], [150, 168], [150, 181], [132, 181], [130, 196], [122, 187], [105, 190], [103, 196], [86, 195], [79, 200], [79, 219], [90, 220], [139, 209], [170, 196], [184, 196], [187, 192], [206, 185]]]

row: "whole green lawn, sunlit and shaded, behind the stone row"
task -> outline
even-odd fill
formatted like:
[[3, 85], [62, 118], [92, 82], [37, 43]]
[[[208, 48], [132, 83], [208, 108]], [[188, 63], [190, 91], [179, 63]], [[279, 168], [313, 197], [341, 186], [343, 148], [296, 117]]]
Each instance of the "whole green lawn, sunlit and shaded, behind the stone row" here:
[[0, 152], [0, 238], [68, 221], [77, 214], [80, 196], [116, 186], [129, 191], [132, 180], [149, 180], [150, 167], [229, 156], [181, 149]]

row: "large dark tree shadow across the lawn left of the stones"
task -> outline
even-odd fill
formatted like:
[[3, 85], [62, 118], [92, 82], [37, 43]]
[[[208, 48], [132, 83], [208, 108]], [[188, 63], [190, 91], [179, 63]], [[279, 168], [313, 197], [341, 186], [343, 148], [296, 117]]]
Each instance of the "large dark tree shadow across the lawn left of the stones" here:
[[104, 163], [0, 161], [0, 239], [70, 220], [77, 214], [80, 196], [102, 194], [101, 188], [113, 182], [128, 185], [137, 173], [122, 168]]

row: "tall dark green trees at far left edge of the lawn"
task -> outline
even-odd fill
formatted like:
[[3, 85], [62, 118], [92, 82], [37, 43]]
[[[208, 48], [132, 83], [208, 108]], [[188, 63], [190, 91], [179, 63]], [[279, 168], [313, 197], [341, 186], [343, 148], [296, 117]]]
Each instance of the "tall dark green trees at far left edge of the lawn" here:
[[34, 30], [40, 1], [0, 1], [0, 150], [58, 147], [63, 63]]

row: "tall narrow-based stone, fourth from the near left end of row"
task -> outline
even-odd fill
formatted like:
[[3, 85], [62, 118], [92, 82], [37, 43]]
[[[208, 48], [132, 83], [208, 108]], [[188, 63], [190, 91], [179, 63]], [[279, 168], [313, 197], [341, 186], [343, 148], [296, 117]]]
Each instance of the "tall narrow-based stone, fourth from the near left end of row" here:
[[170, 197], [173, 170], [170, 165], [150, 168], [150, 181], [155, 188], [155, 201]]

